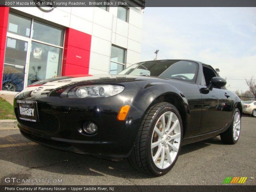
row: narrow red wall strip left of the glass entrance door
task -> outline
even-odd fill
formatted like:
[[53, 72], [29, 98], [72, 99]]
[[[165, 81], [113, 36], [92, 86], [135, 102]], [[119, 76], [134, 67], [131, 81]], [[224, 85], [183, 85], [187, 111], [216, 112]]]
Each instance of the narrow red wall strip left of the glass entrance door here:
[[0, 90], [2, 89], [4, 52], [8, 27], [9, 7], [0, 7]]

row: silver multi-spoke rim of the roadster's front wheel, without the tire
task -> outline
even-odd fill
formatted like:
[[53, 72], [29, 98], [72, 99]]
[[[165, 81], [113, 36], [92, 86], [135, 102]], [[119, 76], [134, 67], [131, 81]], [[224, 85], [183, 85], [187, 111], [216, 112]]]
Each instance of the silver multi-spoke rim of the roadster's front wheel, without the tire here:
[[173, 112], [164, 113], [157, 121], [151, 140], [151, 155], [159, 169], [169, 167], [180, 147], [180, 121]]

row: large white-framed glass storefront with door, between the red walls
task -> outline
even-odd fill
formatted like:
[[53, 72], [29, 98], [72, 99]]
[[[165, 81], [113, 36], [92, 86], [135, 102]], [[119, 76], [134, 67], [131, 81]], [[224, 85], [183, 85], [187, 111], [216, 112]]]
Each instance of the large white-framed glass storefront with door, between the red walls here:
[[9, 13], [2, 90], [20, 92], [27, 85], [60, 75], [64, 29]]

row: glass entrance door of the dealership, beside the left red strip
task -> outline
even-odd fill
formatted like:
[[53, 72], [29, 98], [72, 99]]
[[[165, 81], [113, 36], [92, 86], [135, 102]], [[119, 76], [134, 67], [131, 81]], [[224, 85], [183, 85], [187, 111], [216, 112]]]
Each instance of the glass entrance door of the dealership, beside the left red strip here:
[[26, 79], [29, 43], [7, 36], [4, 56], [2, 90], [20, 92]]

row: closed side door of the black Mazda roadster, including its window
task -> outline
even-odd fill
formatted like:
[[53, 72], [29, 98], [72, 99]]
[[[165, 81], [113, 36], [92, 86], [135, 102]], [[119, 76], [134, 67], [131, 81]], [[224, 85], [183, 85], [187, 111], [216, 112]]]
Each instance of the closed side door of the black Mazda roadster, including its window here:
[[[212, 77], [218, 76], [209, 66], [203, 66], [203, 73], [205, 85], [199, 85], [199, 88], [206, 87]], [[216, 87], [208, 94], [202, 94], [201, 133], [219, 130], [230, 122], [233, 108], [231, 97], [228, 90]]]

